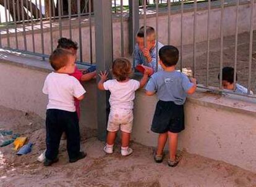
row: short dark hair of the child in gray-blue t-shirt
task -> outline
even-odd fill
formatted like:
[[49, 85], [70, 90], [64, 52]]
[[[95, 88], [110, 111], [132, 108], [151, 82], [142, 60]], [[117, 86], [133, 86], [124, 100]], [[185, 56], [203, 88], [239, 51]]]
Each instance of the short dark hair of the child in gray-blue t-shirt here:
[[179, 61], [179, 50], [174, 46], [163, 46], [159, 50], [159, 58], [166, 67], [174, 66]]

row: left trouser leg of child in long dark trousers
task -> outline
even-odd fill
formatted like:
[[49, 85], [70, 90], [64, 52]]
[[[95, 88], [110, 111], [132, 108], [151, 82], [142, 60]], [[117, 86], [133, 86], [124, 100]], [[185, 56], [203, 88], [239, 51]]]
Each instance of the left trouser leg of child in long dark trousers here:
[[57, 159], [62, 132], [62, 125], [59, 123], [59, 110], [48, 109], [46, 112], [46, 159], [50, 161]]

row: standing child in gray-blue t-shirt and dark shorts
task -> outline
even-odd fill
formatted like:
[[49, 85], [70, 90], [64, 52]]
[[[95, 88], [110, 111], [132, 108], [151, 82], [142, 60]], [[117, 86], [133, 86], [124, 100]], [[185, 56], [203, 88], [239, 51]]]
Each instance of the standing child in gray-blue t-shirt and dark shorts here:
[[163, 161], [163, 149], [168, 138], [168, 165], [175, 167], [180, 160], [176, 156], [177, 135], [185, 129], [183, 104], [187, 94], [194, 94], [197, 81], [194, 78], [189, 80], [185, 74], [175, 70], [179, 60], [179, 50], [176, 47], [162, 47], [159, 58], [164, 71], [153, 74], [146, 86], [146, 94], [151, 96], [156, 93], [159, 99], [151, 125], [151, 130], [159, 133], [154, 159], [158, 163]]

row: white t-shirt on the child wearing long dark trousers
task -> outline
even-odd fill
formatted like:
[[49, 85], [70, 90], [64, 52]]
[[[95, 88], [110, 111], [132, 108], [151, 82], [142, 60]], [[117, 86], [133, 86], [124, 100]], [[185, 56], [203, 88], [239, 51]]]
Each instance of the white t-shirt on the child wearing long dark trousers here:
[[80, 82], [64, 73], [50, 73], [45, 79], [43, 93], [48, 95], [47, 109], [62, 109], [74, 112], [74, 97], [79, 98], [85, 94]]

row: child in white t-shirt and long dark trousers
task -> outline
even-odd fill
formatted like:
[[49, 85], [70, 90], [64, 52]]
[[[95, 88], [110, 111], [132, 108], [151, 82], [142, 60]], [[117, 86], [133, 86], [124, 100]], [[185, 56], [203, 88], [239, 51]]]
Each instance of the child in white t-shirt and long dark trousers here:
[[56, 49], [49, 57], [54, 71], [45, 79], [43, 93], [48, 95], [46, 111], [46, 153], [44, 165], [58, 162], [59, 143], [63, 132], [67, 135], [69, 162], [76, 162], [86, 156], [80, 151], [79, 118], [74, 100], [83, 99], [85, 89], [69, 74], [75, 71], [75, 55], [63, 49]]

